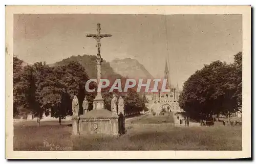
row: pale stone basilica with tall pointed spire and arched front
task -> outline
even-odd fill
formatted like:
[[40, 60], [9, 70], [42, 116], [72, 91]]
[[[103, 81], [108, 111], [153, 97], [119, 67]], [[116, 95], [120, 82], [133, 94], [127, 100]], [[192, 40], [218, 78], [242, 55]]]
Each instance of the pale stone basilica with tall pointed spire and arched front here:
[[166, 89], [170, 89], [170, 92], [147, 92], [145, 93], [145, 97], [147, 99], [147, 108], [150, 109], [151, 112], [160, 113], [161, 111], [165, 112], [181, 112], [182, 109], [179, 106], [178, 100], [181, 90], [178, 87], [178, 83], [176, 87], [174, 87], [170, 83], [169, 77], [169, 69], [167, 62], [165, 63], [165, 71], [164, 71], [164, 79], [166, 82]]

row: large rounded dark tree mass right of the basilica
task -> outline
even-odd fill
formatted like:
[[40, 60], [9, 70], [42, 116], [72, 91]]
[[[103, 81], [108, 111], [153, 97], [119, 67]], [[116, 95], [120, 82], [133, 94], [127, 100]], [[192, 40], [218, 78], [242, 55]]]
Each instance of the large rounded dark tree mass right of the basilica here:
[[233, 64], [221, 61], [205, 64], [184, 83], [179, 97], [180, 107], [193, 119], [208, 119], [212, 114], [228, 115], [238, 111], [237, 79], [241, 75], [236, 72]]

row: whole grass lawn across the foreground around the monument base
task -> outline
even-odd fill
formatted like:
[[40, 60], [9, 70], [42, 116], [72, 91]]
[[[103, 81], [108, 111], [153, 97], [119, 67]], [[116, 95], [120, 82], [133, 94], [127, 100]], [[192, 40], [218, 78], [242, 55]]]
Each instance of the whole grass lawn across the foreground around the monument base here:
[[17, 124], [14, 125], [14, 150], [51, 150], [51, 146], [68, 148], [66, 150], [242, 149], [241, 126], [173, 127], [172, 123], [134, 124], [129, 121], [125, 124], [127, 133], [119, 137], [71, 138], [70, 123], [59, 126], [57, 122], [44, 122], [40, 127], [36, 123]]

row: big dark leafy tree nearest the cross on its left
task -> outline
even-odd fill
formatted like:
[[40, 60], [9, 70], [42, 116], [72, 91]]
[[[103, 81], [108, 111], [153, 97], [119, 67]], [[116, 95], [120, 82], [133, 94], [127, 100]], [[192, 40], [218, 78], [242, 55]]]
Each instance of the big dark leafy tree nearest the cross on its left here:
[[51, 67], [47, 71], [45, 80], [39, 84], [40, 104], [44, 109], [51, 109], [55, 118], [65, 118], [72, 114], [72, 99], [78, 97], [80, 111], [84, 99], [85, 84], [88, 75], [78, 62], [70, 62], [67, 65]]

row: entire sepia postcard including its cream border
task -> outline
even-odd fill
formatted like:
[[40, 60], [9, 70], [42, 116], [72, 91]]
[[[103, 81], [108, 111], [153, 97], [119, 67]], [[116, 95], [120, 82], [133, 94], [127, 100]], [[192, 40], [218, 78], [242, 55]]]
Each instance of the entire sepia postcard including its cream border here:
[[250, 158], [250, 15], [6, 6], [6, 158]]

